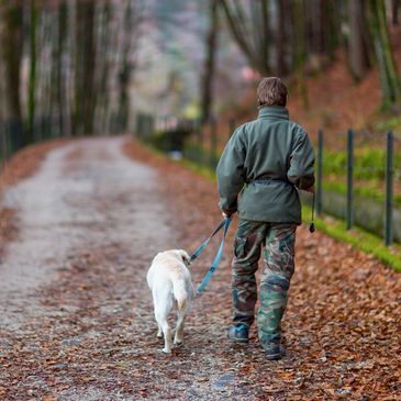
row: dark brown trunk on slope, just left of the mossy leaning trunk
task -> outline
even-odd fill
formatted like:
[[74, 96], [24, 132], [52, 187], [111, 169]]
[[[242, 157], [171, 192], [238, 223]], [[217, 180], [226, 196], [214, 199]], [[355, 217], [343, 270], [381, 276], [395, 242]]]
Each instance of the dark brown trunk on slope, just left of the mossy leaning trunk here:
[[365, 3], [364, 0], [348, 1], [348, 60], [350, 71], [356, 80], [361, 79], [370, 67]]

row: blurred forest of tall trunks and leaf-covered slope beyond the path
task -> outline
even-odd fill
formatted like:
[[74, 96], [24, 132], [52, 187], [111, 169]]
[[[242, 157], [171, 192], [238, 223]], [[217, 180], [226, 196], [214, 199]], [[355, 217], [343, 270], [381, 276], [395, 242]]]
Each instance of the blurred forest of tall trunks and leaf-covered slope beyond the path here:
[[207, 146], [221, 151], [256, 115], [260, 77], [280, 76], [292, 119], [315, 144], [325, 134], [324, 209], [345, 215], [353, 129], [356, 220], [382, 233], [389, 130], [401, 205], [399, 12], [398, 0], [1, 0], [0, 158], [46, 138], [135, 133], [141, 115], [198, 121], [205, 136], [216, 121]]

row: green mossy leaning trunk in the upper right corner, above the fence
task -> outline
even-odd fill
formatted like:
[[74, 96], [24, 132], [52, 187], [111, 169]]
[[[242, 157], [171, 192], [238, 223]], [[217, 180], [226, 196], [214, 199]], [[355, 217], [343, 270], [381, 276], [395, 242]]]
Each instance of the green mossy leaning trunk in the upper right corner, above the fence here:
[[369, 29], [379, 65], [382, 107], [401, 104], [401, 82], [387, 27], [385, 0], [369, 0]]

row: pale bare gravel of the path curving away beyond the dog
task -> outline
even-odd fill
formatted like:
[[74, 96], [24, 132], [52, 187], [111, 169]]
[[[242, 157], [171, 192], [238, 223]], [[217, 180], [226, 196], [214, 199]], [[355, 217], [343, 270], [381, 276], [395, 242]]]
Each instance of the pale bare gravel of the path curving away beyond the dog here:
[[167, 245], [156, 174], [123, 157], [121, 145], [119, 138], [64, 146], [5, 194], [5, 205], [18, 209], [20, 238], [0, 265], [0, 327], [15, 330], [24, 310], [37, 312], [32, 294], [54, 281], [71, 255], [115, 243], [148, 258]]

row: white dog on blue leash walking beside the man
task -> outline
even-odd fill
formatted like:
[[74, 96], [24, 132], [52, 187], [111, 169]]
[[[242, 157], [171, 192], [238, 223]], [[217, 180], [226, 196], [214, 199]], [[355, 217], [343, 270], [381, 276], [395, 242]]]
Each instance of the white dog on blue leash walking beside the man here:
[[186, 266], [190, 256], [182, 249], [161, 252], [153, 259], [147, 272], [147, 283], [153, 296], [157, 336], [165, 337], [163, 352], [171, 353], [171, 331], [167, 318], [177, 307], [177, 326], [174, 344], [183, 341], [183, 322], [193, 299], [191, 275]]

